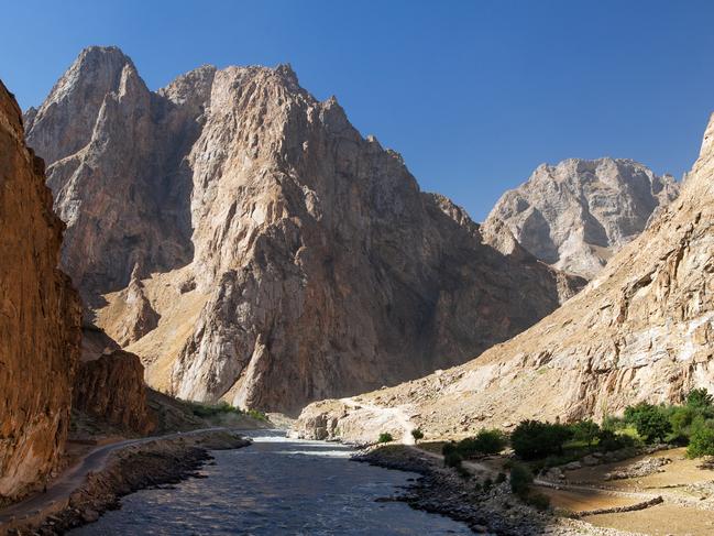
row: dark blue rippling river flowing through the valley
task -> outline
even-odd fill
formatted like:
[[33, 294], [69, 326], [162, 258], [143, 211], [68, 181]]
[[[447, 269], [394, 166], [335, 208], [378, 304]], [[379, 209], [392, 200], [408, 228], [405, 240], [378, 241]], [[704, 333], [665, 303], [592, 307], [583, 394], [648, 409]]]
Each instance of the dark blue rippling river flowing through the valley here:
[[466, 535], [463, 524], [427, 514], [392, 496], [416, 474], [349, 460], [352, 449], [246, 434], [253, 445], [212, 452], [206, 477], [174, 489], [143, 490], [121, 510], [72, 530], [98, 535]]

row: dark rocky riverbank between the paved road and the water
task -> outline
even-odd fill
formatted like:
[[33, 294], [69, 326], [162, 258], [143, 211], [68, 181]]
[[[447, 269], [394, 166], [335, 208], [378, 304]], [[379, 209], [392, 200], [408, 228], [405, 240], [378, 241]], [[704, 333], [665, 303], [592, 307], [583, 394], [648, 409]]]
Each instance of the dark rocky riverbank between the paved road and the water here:
[[[96, 470], [68, 493], [50, 489], [33, 500], [40, 504], [15, 506], [0, 534], [61, 535], [92, 523], [108, 510], [120, 507], [120, 497], [145, 488], [174, 484], [189, 477], [211, 459], [209, 450], [235, 449], [251, 441], [227, 430], [175, 434], [142, 440], [110, 451], [98, 460]], [[54, 496], [56, 495], [56, 497]]]

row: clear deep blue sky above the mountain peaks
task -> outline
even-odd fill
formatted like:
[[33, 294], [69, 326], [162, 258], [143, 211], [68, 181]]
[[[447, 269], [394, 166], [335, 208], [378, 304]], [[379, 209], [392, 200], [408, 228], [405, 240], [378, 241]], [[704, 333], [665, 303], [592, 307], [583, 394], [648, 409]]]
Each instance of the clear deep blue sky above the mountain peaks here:
[[476, 220], [542, 162], [679, 178], [714, 111], [712, 1], [22, 0], [2, 18], [0, 78], [23, 108], [92, 44], [152, 89], [201, 64], [290, 63]]

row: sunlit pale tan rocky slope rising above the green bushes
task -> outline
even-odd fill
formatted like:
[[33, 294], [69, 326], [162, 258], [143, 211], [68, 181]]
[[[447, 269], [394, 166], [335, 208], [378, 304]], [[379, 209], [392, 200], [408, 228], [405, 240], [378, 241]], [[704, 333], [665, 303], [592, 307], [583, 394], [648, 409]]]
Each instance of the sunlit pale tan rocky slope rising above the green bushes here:
[[[600, 419], [714, 389], [714, 116], [679, 198], [576, 296], [469, 363], [308, 406], [307, 437], [374, 440], [404, 423], [437, 435], [520, 419]], [[406, 419], [406, 420], [405, 420]]]

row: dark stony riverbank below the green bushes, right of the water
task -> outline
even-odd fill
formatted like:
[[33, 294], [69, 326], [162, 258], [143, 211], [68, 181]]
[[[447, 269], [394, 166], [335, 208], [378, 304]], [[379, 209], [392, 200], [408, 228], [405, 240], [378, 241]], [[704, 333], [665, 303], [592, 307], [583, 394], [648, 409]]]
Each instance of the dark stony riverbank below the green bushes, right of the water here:
[[[484, 480], [464, 478], [440, 460], [407, 446], [394, 445], [364, 449], [355, 461], [416, 472], [421, 477], [404, 493], [393, 497], [411, 507], [439, 513], [460, 521], [477, 534], [503, 536], [619, 536], [619, 530], [595, 527], [587, 523], [558, 517], [523, 504], [510, 493], [507, 481], [494, 483], [484, 490]], [[487, 486], [486, 486], [487, 488]]]

